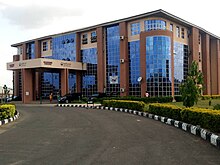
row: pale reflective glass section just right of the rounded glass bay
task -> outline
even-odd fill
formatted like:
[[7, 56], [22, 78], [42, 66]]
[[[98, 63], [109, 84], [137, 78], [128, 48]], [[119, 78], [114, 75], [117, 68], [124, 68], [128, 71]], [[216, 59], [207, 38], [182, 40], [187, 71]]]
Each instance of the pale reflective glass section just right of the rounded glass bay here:
[[174, 42], [174, 92], [180, 95], [179, 85], [186, 79], [188, 73], [188, 46]]

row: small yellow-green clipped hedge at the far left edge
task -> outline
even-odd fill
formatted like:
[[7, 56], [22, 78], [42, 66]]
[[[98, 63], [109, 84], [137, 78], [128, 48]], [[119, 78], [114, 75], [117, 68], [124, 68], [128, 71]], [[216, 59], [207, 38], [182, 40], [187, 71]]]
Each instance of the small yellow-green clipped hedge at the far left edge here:
[[11, 104], [0, 105], [0, 120], [14, 117], [15, 113], [16, 113], [15, 105], [11, 105]]

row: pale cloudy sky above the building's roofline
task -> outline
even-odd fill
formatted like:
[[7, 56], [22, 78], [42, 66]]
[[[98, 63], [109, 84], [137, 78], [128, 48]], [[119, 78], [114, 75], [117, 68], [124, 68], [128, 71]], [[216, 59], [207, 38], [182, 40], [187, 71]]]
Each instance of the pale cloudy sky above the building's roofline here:
[[12, 87], [11, 44], [158, 9], [220, 36], [219, 7], [217, 0], [0, 0], [0, 86]]

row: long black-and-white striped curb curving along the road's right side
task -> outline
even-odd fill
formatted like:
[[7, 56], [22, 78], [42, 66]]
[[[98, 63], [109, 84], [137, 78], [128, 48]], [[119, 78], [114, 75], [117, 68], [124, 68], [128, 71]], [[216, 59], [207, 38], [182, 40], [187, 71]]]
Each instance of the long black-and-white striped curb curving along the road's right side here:
[[209, 143], [211, 143], [212, 145], [214, 145], [215, 147], [220, 149], [220, 136], [215, 135], [214, 133], [209, 132], [203, 128], [200, 128], [199, 126], [194, 126], [192, 124], [188, 124], [188, 123], [181, 122], [178, 120], [170, 119], [168, 117], [158, 116], [158, 115], [150, 114], [147, 112], [140, 112], [140, 111], [136, 111], [136, 110], [104, 107], [104, 106], [88, 106], [88, 105], [77, 105], [77, 104], [57, 104], [57, 106], [59, 106], [59, 107], [81, 107], [81, 108], [104, 109], [104, 110], [110, 110], [110, 111], [125, 112], [125, 113], [130, 113], [130, 114], [150, 118], [150, 119], [165, 123], [167, 125], [171, 125], [176, 128], [182, 129], [185, 132], [189, 132], [195, 136], [202, 138], [205, 141], [208, 141]]

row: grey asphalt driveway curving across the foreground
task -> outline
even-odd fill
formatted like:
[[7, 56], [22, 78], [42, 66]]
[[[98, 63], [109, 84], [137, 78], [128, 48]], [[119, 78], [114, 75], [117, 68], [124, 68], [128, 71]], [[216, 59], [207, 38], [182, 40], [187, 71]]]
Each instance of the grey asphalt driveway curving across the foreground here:
[[21, 106], [0, 127], [0, 164], [219, 165], [220, 150], [151, 119], [121, 112]]

